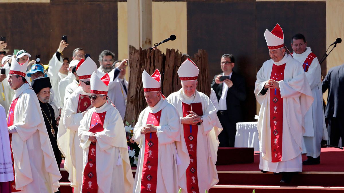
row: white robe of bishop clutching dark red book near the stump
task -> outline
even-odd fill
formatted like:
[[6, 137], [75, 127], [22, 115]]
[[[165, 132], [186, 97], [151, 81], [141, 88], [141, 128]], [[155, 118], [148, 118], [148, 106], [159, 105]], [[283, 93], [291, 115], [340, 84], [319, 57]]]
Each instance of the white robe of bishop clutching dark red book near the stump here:
[[[170, 94], [166, 100], [176, 107], [180, 118], [184, 117], [182, 103], [202, 103], [203, 123], [201, 123], [201, 125], [197, 125], [198, 131], [200, 131], [197, 132], [197, 148], [199, 150], [196, 152], [198, 171], [197, 179], [198, 189], [200, 192], [209, 190], [218, 183], [215, 163], [217, 161], [217, 148], [219, 145], [217, 136], [222, 131], [222, 128], [219, 128], [221, 127], [221, 124], [219, 124], [216, 109], [209, 97], [197, 90], [190, 98], [184, 94], [183, 89], [180, 89], [179, 91]], [[180, 123], [180, 126], [183, 128], [183, 124]], [[183, 175], [185, 181], [184, 184], [180, 184], [181, 187], [186, 186], [185, 171], [183, 172]]]

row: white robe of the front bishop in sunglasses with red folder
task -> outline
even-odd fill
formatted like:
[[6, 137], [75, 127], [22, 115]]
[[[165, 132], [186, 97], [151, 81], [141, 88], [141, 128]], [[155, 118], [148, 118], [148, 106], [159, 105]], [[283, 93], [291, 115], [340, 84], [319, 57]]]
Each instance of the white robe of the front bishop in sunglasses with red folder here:
[[[93, 113], [104, 113], [104, 130], [95, 134], [96, 142], [96, 171], [98, 193], [129, 193], [132, 192], [134, 178], [132, 175], [126, 133], [123, 121], [117, 109], [105, 103], [99, 108], [92, 108], [80, 122], [78, 135], [83, 151], [83, 168], [88, 162], [88, 140], [91, 132], [90, 124]], [[84, 172], [83, 174], [84, 175]], [[85, 180], [86, 181], [86, 180]]]

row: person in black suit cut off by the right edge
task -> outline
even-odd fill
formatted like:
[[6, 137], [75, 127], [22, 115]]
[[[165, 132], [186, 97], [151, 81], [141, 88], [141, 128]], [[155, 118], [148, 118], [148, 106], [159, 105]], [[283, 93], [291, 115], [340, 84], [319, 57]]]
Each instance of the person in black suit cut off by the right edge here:
[[322, 82], [323, 93], [329, 89], [325, 118], [328, 122], [330, 145], [337, 146], [340, 137], [344, 147], [344, 64], [329, 70]]

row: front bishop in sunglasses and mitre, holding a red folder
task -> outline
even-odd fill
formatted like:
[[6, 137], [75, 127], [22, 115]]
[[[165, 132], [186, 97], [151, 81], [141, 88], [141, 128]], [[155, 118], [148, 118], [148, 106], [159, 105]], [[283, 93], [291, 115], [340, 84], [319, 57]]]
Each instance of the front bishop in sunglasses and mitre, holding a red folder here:
[[122, 117], [107, 102], [110, 77], [91, 76], [93, 108], [81, 120], [78, 135], [84, 150], [82, 193], [132, 192], [134, 178]]

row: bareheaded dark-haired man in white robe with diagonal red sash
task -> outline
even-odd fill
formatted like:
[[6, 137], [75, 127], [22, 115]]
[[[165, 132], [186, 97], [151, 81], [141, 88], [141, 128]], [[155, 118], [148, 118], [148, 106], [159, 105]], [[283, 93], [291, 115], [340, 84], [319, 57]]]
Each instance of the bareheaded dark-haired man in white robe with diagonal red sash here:
[[303, 153], [307, 153], [307, 160], [303, 164], [319, 164], [321, 140], [328, 140], [325, 125], [324, 106], [321, 88], [321, 68], [318, 58], [307, 47], [306, 38], [302, 34], [295, 34], [291, 39], [293, 57], [298, 60], [306, 74], [309, 86], [312, 89], [314, 101], [304, 116], [305, 133], [303, 134]]

